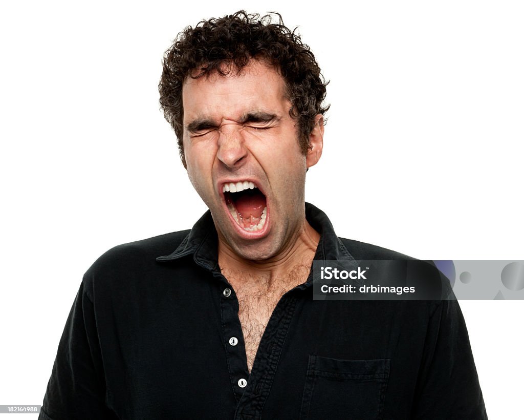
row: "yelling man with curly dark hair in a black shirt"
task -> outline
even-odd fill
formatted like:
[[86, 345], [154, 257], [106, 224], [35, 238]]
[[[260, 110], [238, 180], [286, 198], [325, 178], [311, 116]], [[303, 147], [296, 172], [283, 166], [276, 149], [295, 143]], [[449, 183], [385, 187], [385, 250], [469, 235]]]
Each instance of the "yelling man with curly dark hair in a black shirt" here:
[[209, 211], [86, 272], [40, 418], [486, 418], [456, 301], [313, 300], [314, 260], [408, 257], [304, 203], [327, 108], [300, 38], [244, 12], [201, 22], [159, 90]]

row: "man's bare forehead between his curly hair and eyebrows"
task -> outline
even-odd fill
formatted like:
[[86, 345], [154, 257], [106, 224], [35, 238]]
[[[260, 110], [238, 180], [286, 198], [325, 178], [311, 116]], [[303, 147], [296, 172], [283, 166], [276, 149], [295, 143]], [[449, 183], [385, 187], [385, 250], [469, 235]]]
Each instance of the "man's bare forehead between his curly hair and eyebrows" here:
[[198, 79], [186, 78], [182, 87], [184, 124], [195, 118], [237, 120], [249, 111], [283, 115], [291, 107], [280, 73], [257, 60], [239, 72], [221, 76], [214, 72]]

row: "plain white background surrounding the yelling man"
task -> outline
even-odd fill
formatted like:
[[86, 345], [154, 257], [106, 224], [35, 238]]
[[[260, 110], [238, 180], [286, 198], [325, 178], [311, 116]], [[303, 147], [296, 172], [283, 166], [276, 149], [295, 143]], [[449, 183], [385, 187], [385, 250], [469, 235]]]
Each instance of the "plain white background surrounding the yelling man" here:
[[[524, 259], [521, 2], [189, 3], [2, 5], [0, 404], [42, 403], [100, 254], [204, 212], [157, 92], [163, 51], [202, 18], [276, 10], [300, 26], [332, 104], [307, 200], [340, 236]], [[522, 301], [461, 306], [488, 415], [522, 418]]]

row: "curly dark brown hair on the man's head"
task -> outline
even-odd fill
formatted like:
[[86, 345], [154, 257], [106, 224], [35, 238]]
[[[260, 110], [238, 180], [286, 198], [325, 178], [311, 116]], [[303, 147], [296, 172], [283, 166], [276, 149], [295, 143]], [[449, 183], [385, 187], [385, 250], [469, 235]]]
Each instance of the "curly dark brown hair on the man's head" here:
[[289, 114], [298, 120], [300, 148], [307, 153], [315, 116], [329, 109], [329, 105], [322, 104], [328, 82], [296, 28], [290, 30], [284, 26], [280, 14], [272, 14], [278, 16], [278, 21], [271, 15], [260, 17], [244, 10], [222, 18], [202, 20], [194, 28], [188, 26], [178, 34], [165, 52], [158, 85], [160, 105], [178, 137], [184, 167], [182, 86], [185, 78], [196, 79], [213, 72], [227, 76], [234, 70], [240, 71], [252, 58], [265, 61], [280, 71], [292, 104]]

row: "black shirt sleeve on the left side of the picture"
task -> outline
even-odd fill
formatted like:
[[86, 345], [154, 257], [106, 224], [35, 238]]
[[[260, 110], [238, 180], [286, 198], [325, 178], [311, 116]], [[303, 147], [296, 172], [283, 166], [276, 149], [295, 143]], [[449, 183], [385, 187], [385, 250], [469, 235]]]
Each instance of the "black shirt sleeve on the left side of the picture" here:
[[80, 285], [54, 360], [39, 419], [113, 419], [107, 408], [93, 301]]

